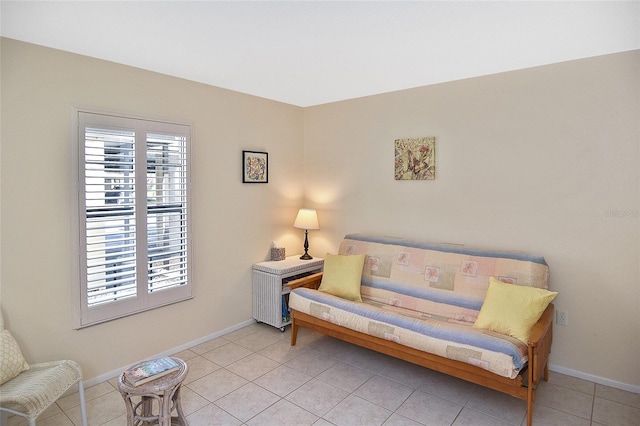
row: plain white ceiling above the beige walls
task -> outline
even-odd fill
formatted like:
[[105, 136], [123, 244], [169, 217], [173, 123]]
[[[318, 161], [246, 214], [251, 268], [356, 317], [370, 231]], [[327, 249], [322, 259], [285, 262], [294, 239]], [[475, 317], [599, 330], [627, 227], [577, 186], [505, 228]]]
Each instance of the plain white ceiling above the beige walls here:
[[2, 1], [2, 36], [298, 106], [640, 49], [640, 2]]

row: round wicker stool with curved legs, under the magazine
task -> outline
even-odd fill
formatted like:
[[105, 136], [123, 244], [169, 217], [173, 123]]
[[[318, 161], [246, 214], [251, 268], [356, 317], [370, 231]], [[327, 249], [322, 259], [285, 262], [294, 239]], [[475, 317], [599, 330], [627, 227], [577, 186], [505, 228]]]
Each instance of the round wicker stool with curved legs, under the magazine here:
[[[124, 373], [120, 375], [118, 390], [127, 407], [128, 426], [188, 426], [180, 405], [180, 387], [189, 367], [179, 358], [173, 360], [181, 365], [180, 369], [139, 386], [129, 384]], [[153, 413], [154, 405], [158, 408], [157, 414]], [[177, 417], [171, 417], [174, 410]]]

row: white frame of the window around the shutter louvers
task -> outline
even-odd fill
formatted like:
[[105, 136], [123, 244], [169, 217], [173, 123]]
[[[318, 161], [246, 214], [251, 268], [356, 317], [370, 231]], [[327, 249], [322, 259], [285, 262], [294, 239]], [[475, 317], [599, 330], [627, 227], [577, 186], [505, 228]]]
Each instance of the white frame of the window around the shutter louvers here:
[[[73, 108], [72, 117], [72, 191], [71, 191], [71, 220], [72, 220], [72, 297], [74, 310], [74, 328], [80, 329], [117, 318], [134, 315], [140, 312], [159, 308], [169, 304], [189, 300], [194, 297], [193, 285], [193, 251], [192, 251], [192, 206], [191, 196], [191, 133], [190, 123], [177, 122], [174, 120], [154, 119], [148, 117], [134, 116], [114, 112], [105, 112], [93, 108]], [[136, 198], [134, 208], [142, 211], [136, 219], [136, 273], [135, 296], [117, 300], [115, 302], [104, 303], [98, 306], [90, 306], [88, 299], [88, 279], [87, 279], [87, 208], [86, 208], [86, 187], [85, 187], [85, 145], [87, 128], [105, 128], [131, 130], [135, 134], [134, 150], [138, 155], [144, 155], [141, 171], [135, 177]], [[148, 256], [148, 249], [151, 242], [147, 238], [147, 219], [153, 210], [147, 203], [147, 179], [148, 179], [148, 155], [150, 142], [148, 136], [153, 135], [175, 135], [184, 137], [184, 162], [186, 173], [184, 173], [183, 183], [185, 186], [186, 200], [184, 206], [184, 221], [186, 222], [186, 242], [184, 249], [180, 251], [184, 255], [186, 282], [182, 285], [172, 286], [161, 291], [150, 290], [149, 270], [151, 259]], [[140, 145], [143, 147], [140, 147]], [[140, 154], [142, 152], [143, 154]], [[136, 160], [134, 160], [136, 161]], [[142, 178], [144, 176], [144, 180]], [[105, 179], [105, 184], [106, 184]], [[105, 200], [109, 197], [106, 195]], [[184, 194], [185, 192], [181, 192]], [[144, 229], [143, 229], [144, 228]], [[139, 232], [138, 230], [142, 230]], [[106, 255], [105, 255], [106, 257]], [[142, 279], [139, 279], [142, 278]]]

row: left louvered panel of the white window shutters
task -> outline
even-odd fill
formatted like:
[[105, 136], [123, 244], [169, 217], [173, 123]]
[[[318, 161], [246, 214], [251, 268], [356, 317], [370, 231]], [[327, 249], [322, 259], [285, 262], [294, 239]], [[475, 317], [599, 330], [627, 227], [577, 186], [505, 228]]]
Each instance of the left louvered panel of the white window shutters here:
[[84, 130], [87, 306], [136, 296], [135, 133]]

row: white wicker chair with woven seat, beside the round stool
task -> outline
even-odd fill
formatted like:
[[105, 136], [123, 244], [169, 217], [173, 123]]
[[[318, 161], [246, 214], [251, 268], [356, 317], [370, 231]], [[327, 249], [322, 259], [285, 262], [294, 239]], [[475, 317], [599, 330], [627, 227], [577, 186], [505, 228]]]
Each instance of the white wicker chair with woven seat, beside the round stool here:
[[[4, 330], [0, 312], [0, 331]], [[36, 418], [73, 385], [78, 384], [82, 425], [87, 426], [82, 370], [74, 361], [31, 364], [29, 369], [0, 385], [0, 415], [7, 413], [25, 417], [30, 426]], [[0, 421], [0, 423], [3, 423]]]

